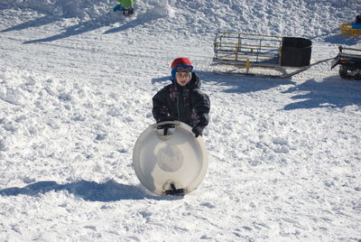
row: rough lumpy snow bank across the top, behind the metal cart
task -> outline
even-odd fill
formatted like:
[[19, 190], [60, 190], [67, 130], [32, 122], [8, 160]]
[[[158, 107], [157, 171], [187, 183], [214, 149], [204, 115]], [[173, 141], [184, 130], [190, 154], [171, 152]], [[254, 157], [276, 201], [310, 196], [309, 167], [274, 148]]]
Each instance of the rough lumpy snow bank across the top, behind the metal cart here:
[[[112, 14], [114, 5], [115, 0], [3, 0], [0, 9], [29, 8], [42, 14], [102, 21], [99, 16]], [[336, 0], [138, 0], [134, 5], [135, 23], [180, 36], [231, 31], [325, 39], [339, 33], [340, 23], [352, 22], [359, 14], [357, 1]]]

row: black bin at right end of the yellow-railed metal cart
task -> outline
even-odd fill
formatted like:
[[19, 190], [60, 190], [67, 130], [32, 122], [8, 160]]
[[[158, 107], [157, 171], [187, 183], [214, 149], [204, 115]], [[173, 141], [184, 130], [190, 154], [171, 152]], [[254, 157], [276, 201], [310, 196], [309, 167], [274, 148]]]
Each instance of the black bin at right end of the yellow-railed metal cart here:
[[283, 37], [281, 65], [288, 67], [304, 67], [310, 65], [312, 42], [304, 38]]

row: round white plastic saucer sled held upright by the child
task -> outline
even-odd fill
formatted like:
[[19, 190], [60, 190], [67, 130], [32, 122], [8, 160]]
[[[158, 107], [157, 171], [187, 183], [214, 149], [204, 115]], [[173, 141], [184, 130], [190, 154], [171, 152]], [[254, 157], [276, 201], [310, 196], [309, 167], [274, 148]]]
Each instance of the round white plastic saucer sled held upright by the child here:
[[143, 186], [157, 195], [184, 195], [197, 189], [208, 169], [201, 136], [179, 121], [146, 128], [133, 151], [133, 167]]

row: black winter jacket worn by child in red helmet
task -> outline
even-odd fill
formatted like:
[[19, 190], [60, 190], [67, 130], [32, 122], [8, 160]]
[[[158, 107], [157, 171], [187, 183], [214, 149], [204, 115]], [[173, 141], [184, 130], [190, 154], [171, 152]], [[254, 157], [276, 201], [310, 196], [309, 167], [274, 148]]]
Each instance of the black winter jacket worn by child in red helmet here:
[[153, 97], [153, 116], [157, 123], [179, 120], [199, 133], [208, 125], [210, 102], [207, 94], [200, 91], [200, 80], [192, 72], [190, 82], [181, 87], [176, 81], [162, 88]]

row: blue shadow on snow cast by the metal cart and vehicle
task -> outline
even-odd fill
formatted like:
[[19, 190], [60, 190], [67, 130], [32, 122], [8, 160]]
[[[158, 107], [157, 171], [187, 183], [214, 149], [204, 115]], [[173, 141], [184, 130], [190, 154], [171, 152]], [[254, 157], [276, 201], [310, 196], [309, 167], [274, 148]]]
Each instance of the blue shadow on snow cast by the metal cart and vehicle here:
[[[236, 76], [221, 76], [207, 71], [196, 71], [202, 82], [226, 87], [225, 93], [249, 93], [262, 91], [282, 85], [292, 85], [282, 93], [297, 93], [292, 97], [297, 102], [283, 107], [284, 110], [317, 107], [347, 107], [350, 105], [361, 106], [361, 81], [340, 79], [332, 76], [322, 81], [309, 79], [297, 85], [291, 79], [260, 79]], [[170, 81], [170, 76], [152, 79], [156, 82]], [[302, 93], [302, 94], [300, 94]]]

